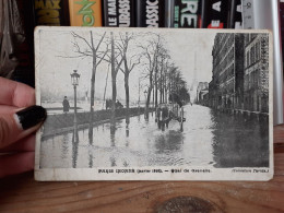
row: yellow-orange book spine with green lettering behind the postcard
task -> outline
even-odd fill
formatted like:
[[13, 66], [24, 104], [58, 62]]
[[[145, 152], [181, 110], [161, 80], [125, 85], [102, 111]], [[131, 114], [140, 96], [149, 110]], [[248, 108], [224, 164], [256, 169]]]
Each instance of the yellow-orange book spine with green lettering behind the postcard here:
[[103, 26], [102, 0], [69, 0], [71, 26]]

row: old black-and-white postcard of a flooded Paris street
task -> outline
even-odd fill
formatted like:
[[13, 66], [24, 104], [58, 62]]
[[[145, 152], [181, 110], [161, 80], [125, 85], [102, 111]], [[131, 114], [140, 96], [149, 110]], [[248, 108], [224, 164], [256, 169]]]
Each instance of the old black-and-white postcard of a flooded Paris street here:
[[37, 27], [37, 180], [269, 180], [269, 31]]

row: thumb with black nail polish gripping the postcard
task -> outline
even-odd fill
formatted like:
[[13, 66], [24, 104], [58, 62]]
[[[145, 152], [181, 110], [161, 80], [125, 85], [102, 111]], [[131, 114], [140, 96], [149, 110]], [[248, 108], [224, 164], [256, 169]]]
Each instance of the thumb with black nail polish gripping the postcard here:
[[36, 131], [45, 119], [46, 109], [42, 106], [31, 106], [14, 114], [0, 115], [0, 147]]

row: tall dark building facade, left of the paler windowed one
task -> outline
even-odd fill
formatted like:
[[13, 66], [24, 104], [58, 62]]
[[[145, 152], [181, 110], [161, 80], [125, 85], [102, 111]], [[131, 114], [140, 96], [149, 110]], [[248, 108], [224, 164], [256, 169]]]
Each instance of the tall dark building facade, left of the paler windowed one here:
[[216, 34], [209, 103], [213, 108], [244, 108], [244, 34]]

